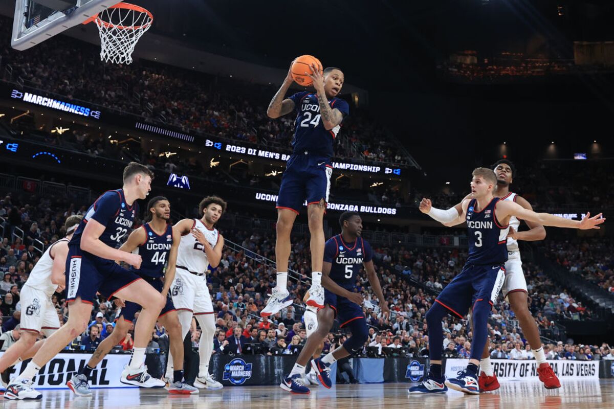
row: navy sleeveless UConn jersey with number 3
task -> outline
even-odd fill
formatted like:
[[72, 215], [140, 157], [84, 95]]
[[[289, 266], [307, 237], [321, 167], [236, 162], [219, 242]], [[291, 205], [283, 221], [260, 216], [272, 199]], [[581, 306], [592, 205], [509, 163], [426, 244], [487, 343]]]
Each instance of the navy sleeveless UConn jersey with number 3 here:
[[505, 264], [507, 261], [507, 234], [510, 226], [501, 226], [495, 216], [499, 197], [492, 200], [480, 212], [475, 211], [477, 200], [467, 207], [467, 231], [469, 256], [467, 264]]

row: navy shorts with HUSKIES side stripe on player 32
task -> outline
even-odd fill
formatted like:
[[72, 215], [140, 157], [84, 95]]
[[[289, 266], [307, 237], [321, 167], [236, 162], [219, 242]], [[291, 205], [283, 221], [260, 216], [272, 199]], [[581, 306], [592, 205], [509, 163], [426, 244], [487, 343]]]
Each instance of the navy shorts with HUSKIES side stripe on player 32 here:
[[68, 302], [80, 298], [88, 304], [93, 304], [96, 292], [111, 298], [117, 291], [137, 280], [141, 280], [141, 277], [114, 261], [101, 259], [82, 251], [79, 245], [68, 248], [66, 257]]

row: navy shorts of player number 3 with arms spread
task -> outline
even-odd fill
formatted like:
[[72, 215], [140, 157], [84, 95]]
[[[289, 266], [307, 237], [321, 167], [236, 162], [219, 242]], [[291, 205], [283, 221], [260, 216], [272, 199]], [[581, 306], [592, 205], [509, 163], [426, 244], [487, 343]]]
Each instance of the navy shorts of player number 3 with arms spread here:
[[488, 300], [494, 305], [505, 281], [503, 264], [476, 266], [465, 264], [462, 271], [445, 286], [435, 302], [448, 308], [453, 315], [464, 318], [477, 301]]

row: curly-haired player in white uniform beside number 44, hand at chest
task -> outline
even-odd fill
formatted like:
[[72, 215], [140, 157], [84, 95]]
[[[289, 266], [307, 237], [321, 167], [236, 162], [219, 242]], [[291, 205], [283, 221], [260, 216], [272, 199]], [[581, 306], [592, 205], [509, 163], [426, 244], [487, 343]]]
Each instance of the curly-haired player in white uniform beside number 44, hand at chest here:
[[[222, 384], [209, 373], [209, 361], [216, 334], [213, 305], [207, 287], [205, 273], [209, 266], [217, 267], [222, 259], [224, 238], [215, 228], [217, 221], [226, 211], [226, 202], [220, 197], [205, 197], [198, 205], [200, 219], [184, 219], [174, 229], [181, 234], [177, 253], [177, 269], [171, 287], [173, 304], [181, 323], [181, 339], [185, 338], [192, 324], [192, 315], [200, 325], [200, 365], [194, 386], [198, 389], [220, 389]], [[166, 378], [173, 377], [173, 360], [168, 357]]]

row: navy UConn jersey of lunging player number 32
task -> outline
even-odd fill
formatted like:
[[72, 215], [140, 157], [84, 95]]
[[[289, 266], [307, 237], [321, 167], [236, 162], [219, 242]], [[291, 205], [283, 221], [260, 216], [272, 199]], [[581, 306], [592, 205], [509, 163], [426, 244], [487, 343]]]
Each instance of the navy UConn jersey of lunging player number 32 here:
[[88, 208], [68, 244], [79, 245], [85, 225], [93, 219], [106, 226], [99, 240], [109, 247], [119, 248], [126, 234], [131, 231], [134, 224], [134, 215], [138, 210], [136, 202], [132, 206], [128, 206], [123, 189], [109, 190], [98, 197], [94, 204]]

